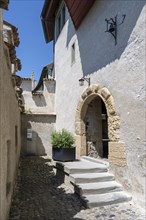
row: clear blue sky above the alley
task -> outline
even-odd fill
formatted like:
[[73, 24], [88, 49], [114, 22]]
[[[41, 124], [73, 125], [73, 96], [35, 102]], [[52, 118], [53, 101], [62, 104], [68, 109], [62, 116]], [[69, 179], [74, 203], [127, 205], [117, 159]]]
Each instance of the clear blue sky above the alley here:
[[44, 0], [10, 0], [9, 10], [3, 11], [3, 18], [18, 28], [20, 45], [16, 49], [21, 59], [21, 77], [39, 79], [42, 68], [53, 60], [53, 45], [46, 44], [41, 24]]

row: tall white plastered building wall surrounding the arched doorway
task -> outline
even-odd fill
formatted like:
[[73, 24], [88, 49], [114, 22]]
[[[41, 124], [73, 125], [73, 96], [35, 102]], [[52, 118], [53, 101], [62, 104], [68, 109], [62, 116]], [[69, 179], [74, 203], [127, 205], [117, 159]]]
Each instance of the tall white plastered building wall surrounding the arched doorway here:
[[[126, 18], [124, 23], [118, 26], [117, 45], [115, 45], [113, 36], [105, 32], [105, 19], [117, 15], [119, 24], [123, 14]], [[79, 87], [80, 78], [90, 77], [91, 86], [95, 84], [107, 89], [111, 97], [107, 94], [104, 98], [104, 91], [103, 94], [98, 92], [92, 94], [104, 98], [109, 108], [107, 111], [113, 116], [109, 117], [108, 121], [111, 131], [109, 152], [116, 158], [109, 157], [110, 169], [125, 189], [133, 194], [135, 201], [141, 205], [144, 205], [146, 169], [143, 129], [145, 127], [145, 14], [145, 1], [95, 1], [78, 30], [74, 29], [67, 12], [66, 24], [55, 44], [56, 128], [78, 132], [84, 127], [80, 118], [76, 120], [76, 116], [80, 103], [83, 106], [86, 100], [82, 94], [88, 84], [85, 81], [84, 86]], [[76, 52], [75, 62], [71, 63], [73, 43]], [[90, 94], [90, 91], [88, 92]], [[114, 105], [110, 107], [110, 103]], [[82, 109], [80, 110], [82, 112]], [[86, 152], [83, 147], [86, 145], [84, 136], [84, 133], [82, 138], [76, 136], [79, 154]]]

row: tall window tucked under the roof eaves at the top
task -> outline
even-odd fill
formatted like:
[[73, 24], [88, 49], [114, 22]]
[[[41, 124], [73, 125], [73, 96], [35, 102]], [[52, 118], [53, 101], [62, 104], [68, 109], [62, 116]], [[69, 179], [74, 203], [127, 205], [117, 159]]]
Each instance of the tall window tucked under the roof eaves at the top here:
[[55, 38], [57, 40], [62, 28], [65, 25], [66, 21], [66, 9], [65, 9], [65, 4], [62, 2], [60, 5], [60, 8], [56, 14], [56, 20], [55, 20]]

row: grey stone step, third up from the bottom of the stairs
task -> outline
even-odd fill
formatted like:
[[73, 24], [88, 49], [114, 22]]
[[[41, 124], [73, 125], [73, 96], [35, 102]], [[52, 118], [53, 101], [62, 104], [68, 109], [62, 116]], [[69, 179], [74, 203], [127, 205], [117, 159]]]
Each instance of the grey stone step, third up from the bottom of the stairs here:
[[83, 174], [71, 174], [70, 181], [73, 184], [79, 183], [93, 183], [93, 182], [104, 182], [114, 180], [114, 175], [107, 172], [104, 173], [83, 173]]

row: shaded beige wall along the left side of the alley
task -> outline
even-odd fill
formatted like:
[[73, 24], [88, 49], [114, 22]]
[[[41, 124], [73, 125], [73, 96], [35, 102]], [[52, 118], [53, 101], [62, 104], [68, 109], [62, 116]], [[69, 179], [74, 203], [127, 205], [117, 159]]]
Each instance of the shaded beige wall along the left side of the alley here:
[[0, 9], [0, 219], [6, 220], [19, 162], [21, 122], [9, 52], [3, 42], [2, 21]]

